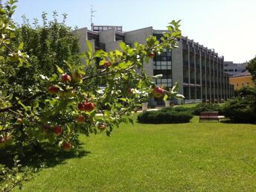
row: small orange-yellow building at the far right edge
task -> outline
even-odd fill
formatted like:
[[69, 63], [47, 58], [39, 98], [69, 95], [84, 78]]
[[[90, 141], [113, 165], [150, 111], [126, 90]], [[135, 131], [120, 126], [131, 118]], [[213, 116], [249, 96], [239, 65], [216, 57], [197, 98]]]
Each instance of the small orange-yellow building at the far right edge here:
[[234, 85], [235, 90], [241, 89], [243, 86], [255, 86], [255, 83], [252, 80], [252, 75], [249, 73], [249, 71], [229, 77], [229, 82]]

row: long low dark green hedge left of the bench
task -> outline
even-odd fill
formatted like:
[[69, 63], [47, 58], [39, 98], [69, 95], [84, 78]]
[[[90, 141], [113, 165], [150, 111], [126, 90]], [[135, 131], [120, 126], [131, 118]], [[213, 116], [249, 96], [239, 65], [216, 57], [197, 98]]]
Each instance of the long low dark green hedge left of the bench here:
[[193, 115], [183, 107], [164, 108], [159, 111], [143, 112], [138, 115], [138, 122], [144, 124], [188, 123]]

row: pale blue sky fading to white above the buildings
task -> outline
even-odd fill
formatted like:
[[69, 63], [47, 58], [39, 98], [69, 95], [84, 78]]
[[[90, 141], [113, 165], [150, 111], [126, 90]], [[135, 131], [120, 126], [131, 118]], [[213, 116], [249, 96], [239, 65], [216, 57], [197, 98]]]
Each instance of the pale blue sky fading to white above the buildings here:
[[182, 35], [225, 60], [243, 63], [256, 55], [255, 0], [19, 0], [15, 20], [51, 18], [52, 11], [68, 13], [67, 25], [90, 28], [91, 4], [95, 25], [122, 25], [124, 31], [153, 26], [165, 29], [170, 20], [181, 19]]

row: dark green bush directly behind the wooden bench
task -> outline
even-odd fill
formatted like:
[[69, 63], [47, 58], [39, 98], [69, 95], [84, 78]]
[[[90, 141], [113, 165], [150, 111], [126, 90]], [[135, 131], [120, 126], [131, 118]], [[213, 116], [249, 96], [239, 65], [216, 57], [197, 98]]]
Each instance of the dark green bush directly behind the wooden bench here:
[[219, 112], [219, 115], [223, 114], [221, 107], [214, 103], [199, 103], [192, 110], [193, 115], [200, 115], [200, 112]]

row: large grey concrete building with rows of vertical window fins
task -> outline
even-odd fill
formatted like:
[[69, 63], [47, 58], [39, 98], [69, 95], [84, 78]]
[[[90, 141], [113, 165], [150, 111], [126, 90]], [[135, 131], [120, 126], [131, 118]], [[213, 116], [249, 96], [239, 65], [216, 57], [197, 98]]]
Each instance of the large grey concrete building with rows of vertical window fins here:
[[[86, 51], [86, 40], [92, 42], [95, 50], [101, 48], [104, 51], [113, 51], [121, 50], [121, 41], [129, 45], [134, 42], [145, 44], [148, 36], [153, 35], [160, 39], [162, 33], [166, 32], [154, 30], [152, 27], [127, 32], [121, 31], [120, 26], [109, 26], [106, 30], [103, 29], [106, 26], [101, 27], [96, 26], [97, 31], [90, 31], [88, 28], [74, 31], [80, 36], [80, 51]], [[150, 63], [144, 65], [144, 70], [148, 75], [163, 74], [162, 79], [156, 80], [159, 86], [164, 84], [172, 87], [173, 83], [179, 81], [179, 93], [185, 95], [185, 103], [218, 103], [234, 96], [234, 86], [229, 83], [229, 75], [224, 72], [223, 62], [224, 57], [214, 50], [182, 36], [179, 48], [156, 55]], [[155, 102], [162, 104], [162, 100]]]

